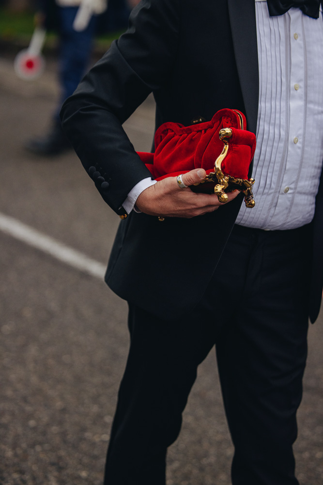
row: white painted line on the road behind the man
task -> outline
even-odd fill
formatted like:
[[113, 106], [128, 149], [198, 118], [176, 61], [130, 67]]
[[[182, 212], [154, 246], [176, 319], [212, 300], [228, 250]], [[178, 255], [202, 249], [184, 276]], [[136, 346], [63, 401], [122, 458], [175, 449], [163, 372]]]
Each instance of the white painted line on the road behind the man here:
[[88, 275], [103, 279], [106, 266], [26, 224], [0, 213], [0, 230]]

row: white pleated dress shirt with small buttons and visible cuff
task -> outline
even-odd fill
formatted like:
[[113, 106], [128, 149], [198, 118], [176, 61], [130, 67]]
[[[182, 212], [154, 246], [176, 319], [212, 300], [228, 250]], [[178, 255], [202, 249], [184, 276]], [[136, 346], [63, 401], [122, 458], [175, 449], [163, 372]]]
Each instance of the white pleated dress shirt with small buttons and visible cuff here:
[[[313, 218], [322, 170], [322, 10], [318, 19], [298, 8], [270, 17], [266, 0], [256, 0], [256, 21], [256, 205], [247, 209], [243, 204], [236, 223], [267, 230], [293, 229]], [[138, 195], [152, 183], [150, 178], [144, 179], [129, 193], [123, 204], [128, 213]]]

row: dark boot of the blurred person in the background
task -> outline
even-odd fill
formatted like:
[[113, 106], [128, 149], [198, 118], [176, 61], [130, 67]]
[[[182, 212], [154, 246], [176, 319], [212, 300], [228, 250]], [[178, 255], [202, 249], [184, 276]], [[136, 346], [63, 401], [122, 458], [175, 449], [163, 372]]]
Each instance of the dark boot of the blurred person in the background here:
[[47, 135], [31, 139], [25, 144], [25, 148], [36, 155], [60, 155], [70, 150], [72, 145], [66, 138], [61, 123], [54, 121]]

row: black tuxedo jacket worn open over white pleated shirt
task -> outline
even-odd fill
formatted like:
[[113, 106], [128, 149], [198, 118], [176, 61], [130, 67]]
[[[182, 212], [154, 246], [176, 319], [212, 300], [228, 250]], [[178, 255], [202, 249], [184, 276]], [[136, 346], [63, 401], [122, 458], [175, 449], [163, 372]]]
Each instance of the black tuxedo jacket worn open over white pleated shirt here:
[[[209, 120], [217, 110], [233, 108], [246, 113], [247, 129], [255, 132], [258, 91], [254, 0], [143, 0], [128, 31], [65, 102], [63, 128], [85, 169], [96, 165], [108, 181], [108, 188], [102, 179], [96, 186], [121, 215], [130, 190], [150, 177], [122, 128], [149, 93], [156, 100], [156, 127], [166, 121], [189, 125], [196, 116]], [[215, 271], [241, 202], [239, 196], [213, 213], [162, 223], [132, 212], [116, 236], [108, 285], [164, 318], [189, 311]], [[312, 321], [323, 286], [322, 227], [323, 183], [313, 221]], [[308, 259], [304, 255], [299, 264], [312, 264]]]

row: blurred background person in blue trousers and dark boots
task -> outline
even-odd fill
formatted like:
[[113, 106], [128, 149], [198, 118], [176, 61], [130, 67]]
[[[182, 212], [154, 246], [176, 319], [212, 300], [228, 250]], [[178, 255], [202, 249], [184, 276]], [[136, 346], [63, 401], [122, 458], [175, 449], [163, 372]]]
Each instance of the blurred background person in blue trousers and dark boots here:
[[82, 0], [40, 0], [35, 23], [59, 34], [58, 74], [60, 99], [52, 115], [49, 131], [29, 140], [25, 147], [38, 155], [59, 155], [71, 148], [61, 128], [59, 117], [63, 101], [71, 96], [85, 74], [91, 60], [94, 36], [97, 32], [124, 29], [130, 7], [126, 0], [83, 0], [93, 9], [86, 26], [76, 30], [75, 19]]

